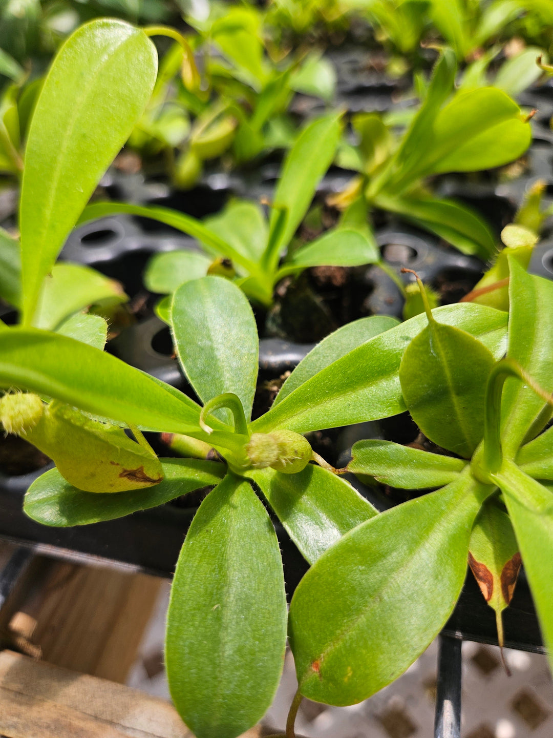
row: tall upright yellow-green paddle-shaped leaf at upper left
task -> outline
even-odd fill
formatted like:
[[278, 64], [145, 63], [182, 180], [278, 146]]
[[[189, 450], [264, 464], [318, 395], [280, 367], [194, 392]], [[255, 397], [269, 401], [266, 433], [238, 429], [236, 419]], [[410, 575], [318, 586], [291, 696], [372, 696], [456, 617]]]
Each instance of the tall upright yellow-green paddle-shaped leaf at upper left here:
[[24, 319], [42, 280], [156, 81], [156, 49], [123, 21], [81, 26], [49, 70], [29, 128], [21, 184]]

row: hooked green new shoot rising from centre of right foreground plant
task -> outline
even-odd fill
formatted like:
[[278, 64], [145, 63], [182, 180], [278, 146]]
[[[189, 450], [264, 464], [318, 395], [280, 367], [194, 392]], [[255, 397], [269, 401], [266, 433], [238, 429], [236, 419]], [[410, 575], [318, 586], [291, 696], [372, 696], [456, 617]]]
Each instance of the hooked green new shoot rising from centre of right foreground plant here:
[[495, 474], [501, 468], [501, 395], [509, 377], [525, 382], [541, 399], [553, 405], [553, 396], [537, 384], [514, 359], [501, 359], [490, 372], [484, 401], [484, 468]]

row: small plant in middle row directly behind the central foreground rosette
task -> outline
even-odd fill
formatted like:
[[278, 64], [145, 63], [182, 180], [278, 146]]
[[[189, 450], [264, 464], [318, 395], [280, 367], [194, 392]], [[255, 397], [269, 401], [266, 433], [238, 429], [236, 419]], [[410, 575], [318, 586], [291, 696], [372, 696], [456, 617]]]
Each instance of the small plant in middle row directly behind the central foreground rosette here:
[[[336, 227], [314, 241], [300, 246], [293, 243], [316, 188], [333, 161], [341, 117], [341, 113], [325, 114], [302, 129], [285, 157], [268, 219], [260, 204], [245, 200], [232, 201], [223, 213], [204, 222], [164, 207], [97, 202], [86, 207], [80, 222], [128, 213], [153, 218], [198, 238], [203, 252], [178, 250], [158, 254], [150, 261], [145, 283], [160, 294], [172, 294], [185, 281], [212, 273], [221, 259], [227, 260], [226, 275], [253, 303], [265, 307], [273, 303], [279, 280], [310, 266], [379, 263], [390, 273], [366, 224], [365, 210], [357, 215], [358, 208], [353, 207]], [[392, 276], [397, 281], [393, 272]], [[168, 300], [161, 301], [161, 317], [167, 305]]]

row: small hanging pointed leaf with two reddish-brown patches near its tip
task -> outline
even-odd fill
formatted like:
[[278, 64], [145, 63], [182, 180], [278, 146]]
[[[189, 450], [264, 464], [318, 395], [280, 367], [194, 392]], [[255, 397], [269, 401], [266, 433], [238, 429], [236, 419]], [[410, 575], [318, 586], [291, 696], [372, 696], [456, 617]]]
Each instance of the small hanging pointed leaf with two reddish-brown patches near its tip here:
[[470, 537], [468, 563], [484, 599], [495, 610], [503, 657], [501, 613], [509, 605], [515, 591], [521, 554], [518, 553], [518, 543], [509, 516], [497, 497], [488, 499], [476, 518]]

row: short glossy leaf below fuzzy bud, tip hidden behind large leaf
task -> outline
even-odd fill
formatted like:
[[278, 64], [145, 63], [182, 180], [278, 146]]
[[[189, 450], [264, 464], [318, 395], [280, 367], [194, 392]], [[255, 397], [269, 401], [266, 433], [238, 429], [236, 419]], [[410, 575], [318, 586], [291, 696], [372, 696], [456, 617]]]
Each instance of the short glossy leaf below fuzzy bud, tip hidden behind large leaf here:
[[313, 564], [347, 531], [377, 512], [345, 480], [308, 464], [297, 474], [246, 472], [259, 486], [304, 559]]

